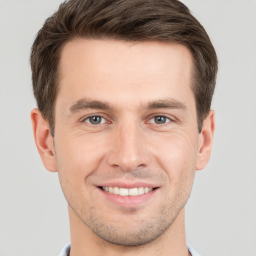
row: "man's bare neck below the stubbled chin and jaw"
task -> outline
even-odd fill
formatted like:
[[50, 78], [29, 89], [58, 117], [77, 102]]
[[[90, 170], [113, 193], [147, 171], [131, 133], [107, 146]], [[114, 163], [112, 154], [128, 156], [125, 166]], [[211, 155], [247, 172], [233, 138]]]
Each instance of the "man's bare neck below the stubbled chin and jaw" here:
[[168, 255], [187, 256], [185, 242], [184, 208], [175, 221], [155, 240], [138, 246], [123, 246], [107, 242], [94, 234], [68, 206], [70, 220], [71, 250], [70, 256], [105, 255]]

